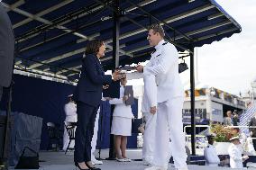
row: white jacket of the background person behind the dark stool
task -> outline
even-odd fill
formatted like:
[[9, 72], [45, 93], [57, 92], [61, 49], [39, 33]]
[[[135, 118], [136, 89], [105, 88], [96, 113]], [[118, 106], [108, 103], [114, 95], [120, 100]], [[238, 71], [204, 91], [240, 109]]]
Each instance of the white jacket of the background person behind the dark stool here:
[[77, 104], [73, 102], [66, 103], [64, 106], [64, 111], [66, 113], [65, 121], [68, 122], [77, 122], [78, 115], [77, 115]]

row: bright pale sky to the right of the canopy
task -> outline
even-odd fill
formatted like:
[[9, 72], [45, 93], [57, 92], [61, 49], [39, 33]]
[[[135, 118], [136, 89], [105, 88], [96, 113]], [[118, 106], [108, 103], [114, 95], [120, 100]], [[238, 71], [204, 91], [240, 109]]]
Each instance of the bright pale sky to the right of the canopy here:
[[[242, 32], [196, 49], [197, 79], [231, 94], [251, 90], [256, 77], [256, 1], [216, 0], [236, 22]], [[187, 61], [189, 64], [189, 61]], [[188, 65], [189, 66], [189, 65]], [[184, 84], [189, 71], [181, 74]]]

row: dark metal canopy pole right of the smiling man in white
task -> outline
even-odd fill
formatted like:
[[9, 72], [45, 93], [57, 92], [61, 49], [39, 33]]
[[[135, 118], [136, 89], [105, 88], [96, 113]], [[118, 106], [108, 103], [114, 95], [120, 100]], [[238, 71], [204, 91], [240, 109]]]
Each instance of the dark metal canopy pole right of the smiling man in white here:
[[196, 122], [195, 122], [195, 73], [194, 73], [194, 49], [190, 53], [190, 98], [191, 98], [191, 150], [192, 156], [196, 156]]

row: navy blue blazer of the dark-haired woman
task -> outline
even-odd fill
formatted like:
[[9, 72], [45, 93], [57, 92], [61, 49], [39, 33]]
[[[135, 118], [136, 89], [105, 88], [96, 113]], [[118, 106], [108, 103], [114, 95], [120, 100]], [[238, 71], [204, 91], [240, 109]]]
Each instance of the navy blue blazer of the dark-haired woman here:
[[81, 75], [73, 94], [74, 101], [97, 107], [102, 98], [102, 85], [109, 85], [111, 81], [112, 76], [105, 75], [96, 55], [88, 54], [83, 58]]

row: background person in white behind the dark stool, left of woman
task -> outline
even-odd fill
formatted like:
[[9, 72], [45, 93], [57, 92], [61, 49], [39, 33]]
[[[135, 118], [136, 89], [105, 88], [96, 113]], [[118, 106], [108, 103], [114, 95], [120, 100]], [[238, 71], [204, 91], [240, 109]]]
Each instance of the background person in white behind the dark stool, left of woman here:
[[[77, 122], [78, 121], [78, 115], [77, 115], [77, 104], [74, 103], [72, 100], [73, 94], [70, 94], [69, 97], [69, 103], [66, 103], [64, 106], [64, 112], [66, 113], [66, 119], [65, 119], [65, 124], [66, 122]], [[64, 126], [64, 134], [63, 134], [63, 150], [66, 150], [69, 145], [69, 134], [68, 131], [66, 130], [66, 127]], [[75, 146], [75, 141], [72, 140], [69, 148], [74, 148]]]

